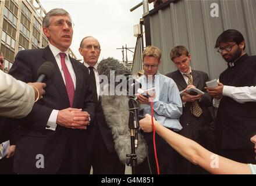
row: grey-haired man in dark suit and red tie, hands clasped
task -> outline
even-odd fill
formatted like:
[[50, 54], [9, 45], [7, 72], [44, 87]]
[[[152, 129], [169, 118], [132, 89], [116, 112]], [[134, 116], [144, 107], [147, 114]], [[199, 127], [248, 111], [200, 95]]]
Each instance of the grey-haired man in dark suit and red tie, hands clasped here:
[[30, 114], [18, 122], [14, 171], [21, 174], [90, 173], [91, 126], [95, 103], [88, 84], [88, 69], [69, 56], [73, 23], [63, 9], [45, 15], [42, 29], [49, 40], [44, 49], [17, 53], [9, 71], [24, 82], [37, 80], [44, 62], [55, 66], [47, 80], [47, 94], [35, 103]]

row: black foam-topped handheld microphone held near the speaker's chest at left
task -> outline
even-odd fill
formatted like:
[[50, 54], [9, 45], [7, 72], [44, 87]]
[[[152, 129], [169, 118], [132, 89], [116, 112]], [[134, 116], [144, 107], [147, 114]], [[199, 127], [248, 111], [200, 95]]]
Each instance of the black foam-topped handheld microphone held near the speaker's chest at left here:
[[54, 64], [52, 62], [43, 63], [37, 70], [37, 83], [49, 80], [54, 75]]

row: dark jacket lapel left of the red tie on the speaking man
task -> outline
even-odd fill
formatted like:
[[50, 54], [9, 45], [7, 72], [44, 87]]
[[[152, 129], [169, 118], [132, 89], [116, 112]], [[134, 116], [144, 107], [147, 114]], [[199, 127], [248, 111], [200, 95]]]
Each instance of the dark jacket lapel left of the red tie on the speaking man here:
[[51, 81], [55, 85], [56, 89], [59, 92], [59, 95], [61, 95], [61, 98], [66, 103], [67, 107], [69, 107], [69, 98], [67, 96], [66, 86], [65, 86], [65, 83], [63, 81], [61, 71], [59, 70], [59, 67], [58, 67], [57, 62], [55, 60], [55, 57], [52, 54], [52, 51], [49, 48], [49, 46], [44, 48], [44, 51], [42, 53], [42, 58], [44, 58], [48, 62], [54, 63], [54, 66], [55, 66], [54, 76], [51, 78]]

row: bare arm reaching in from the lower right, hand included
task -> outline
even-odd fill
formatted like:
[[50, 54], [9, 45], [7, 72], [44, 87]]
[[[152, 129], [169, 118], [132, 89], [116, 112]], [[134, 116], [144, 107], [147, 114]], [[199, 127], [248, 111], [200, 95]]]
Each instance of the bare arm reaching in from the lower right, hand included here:
[[[166, 141], [172, 148], [180, 153], [184, 158], [194, 164], [198, 164], [212, 174], [251, 174], [248, 164], [234, 162], [233, 160], [223, 158], [203, 148], [189, 138], [176, 134], [166, 127], [163, 127], [154, 120], [155, 131]], [[140, 120], [140, 127], [145, 132], [152, 131], [151, 116], [146, 115]]]

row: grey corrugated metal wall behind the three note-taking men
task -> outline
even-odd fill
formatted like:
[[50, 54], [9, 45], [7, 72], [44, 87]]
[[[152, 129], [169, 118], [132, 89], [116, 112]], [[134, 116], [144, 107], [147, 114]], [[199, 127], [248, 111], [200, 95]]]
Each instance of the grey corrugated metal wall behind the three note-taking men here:
[[[211, 4], [219, 5], [219, 17], [211, 17]], [[176, 70], [170, 60], [170, 49], [186, 46], [191, 53], [191, 66], [210, 78], [218, 78], [226, 62], [214, 48], [216, 38], [229, 28], [239, 30], [246, 40], [246, 52], [256, 55], [256, 0], [178, 1], [165, 3], [157, 12], [151, 10], [151, 45], [162, 51], [162, 74]], [[146, 27], [146, 26], [145, 26]], [[148, 44], [148, 41], [146, 41]], [[136, 69], [137, 71], [139, 69]]]

